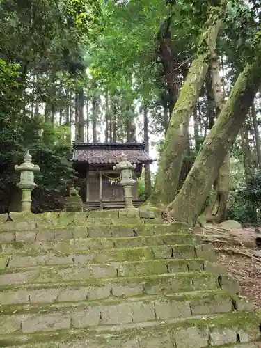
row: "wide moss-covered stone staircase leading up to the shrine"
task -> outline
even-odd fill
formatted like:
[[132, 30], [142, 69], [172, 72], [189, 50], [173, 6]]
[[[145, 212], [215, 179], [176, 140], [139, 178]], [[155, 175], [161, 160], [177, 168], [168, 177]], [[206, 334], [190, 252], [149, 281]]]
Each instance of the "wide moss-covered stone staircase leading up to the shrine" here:
[[158, 215], [0, 216], [0, 347], [260, 347], [214, 248]]

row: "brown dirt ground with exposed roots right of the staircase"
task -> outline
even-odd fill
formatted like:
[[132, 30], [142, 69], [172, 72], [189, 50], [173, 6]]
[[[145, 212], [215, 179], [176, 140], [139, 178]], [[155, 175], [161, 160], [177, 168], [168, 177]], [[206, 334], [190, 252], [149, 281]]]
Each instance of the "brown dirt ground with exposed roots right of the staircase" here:
[[[261, 228], [212, 228], [203, 230], [203, 240], [214, 244], [218, 262], [239, 280], [242, 295], [261, 308], [261, 245], [257, 245]], [[259, 244], [259, 243], [258, 243]]]

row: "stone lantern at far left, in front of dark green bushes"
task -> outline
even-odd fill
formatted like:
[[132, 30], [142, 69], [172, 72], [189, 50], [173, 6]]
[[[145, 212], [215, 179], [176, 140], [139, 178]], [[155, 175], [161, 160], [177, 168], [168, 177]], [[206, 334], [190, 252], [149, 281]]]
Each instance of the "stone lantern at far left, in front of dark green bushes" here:
[[22, 189], [22, 212], [31, 212], [31, 193], [37, 186], [34, 182], [34, 172], [40, 172], [40, 167], [32, 164], [29, 152], [24, 155], [24, 163], [15, 166], [15, 171], [20, 172], [20, 181], [17, 184]]

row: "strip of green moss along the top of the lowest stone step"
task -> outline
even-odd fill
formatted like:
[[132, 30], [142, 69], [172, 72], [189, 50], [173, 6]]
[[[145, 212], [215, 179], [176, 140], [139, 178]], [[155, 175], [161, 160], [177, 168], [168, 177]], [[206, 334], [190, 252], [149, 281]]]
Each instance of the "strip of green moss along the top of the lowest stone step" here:
[[[102, 331], [96, 330], [95, 328], [89, 329], [73, 329], [73, 330], [56, 330], [55, 334], [50, 333], [32, 333], [29, 335], [10, 335], [9, 338], [2, 336], [0, 338], [0, 347], [8, 347], [8, 345], [25, 345], [24, 348], [37, 348], [38, 344], [42, 347], [42, 344], [46, 343], [46, 348], [48, 347], [59, 347], [59, 342], [71, 343], [75, 340], [86, 340], [90, 345], [95, 343], [96, 345], [115, 345], [113, 338], [117, 338], [119, 344], [132, 340], [133, 338], [139, 337], [146, 341], [150, 341], [150, 338], [160, 338], [166, 333], [177, 332], [181, 329], [188, 329], [190, 327], [198, 327], [198, 329], [207, 329], [208, 326], [216, 327], [226, 327], [235, 328], [238, 327], [240, 321], [244, 322], [244, 325], [255, 328], [259, 322], [256, 320], [255, 315], [249, 315], [249, 313], [231, 313], [226, 315], [214, 315], [206, 316], [205, 319], [185, 319], [179, 320], [177, 322], [165, 322], [160, 325], [152, 324], [152, 326], [147, 326], [145, 328], [129, 328], [126, 329], [124, 325], [117, 331], [112, 331], [110, 329], [105, 329]], [[108, 341], [108, 337], [111, 338]], [[229, 346], [224, 346], [229, 347]]]

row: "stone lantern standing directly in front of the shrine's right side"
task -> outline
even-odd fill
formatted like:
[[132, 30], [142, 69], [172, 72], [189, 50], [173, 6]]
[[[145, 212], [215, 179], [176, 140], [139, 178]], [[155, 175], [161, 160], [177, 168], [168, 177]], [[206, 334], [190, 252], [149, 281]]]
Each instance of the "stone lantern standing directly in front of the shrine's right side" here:
[[120, 184], [124, 190], [125, 208], [133, 208], [132, 204], [132, 186], [135, 180], [132, 179], [132, 171], [136, 168], [136, 164], [127, 161], [127, 155], [122, 153], [120, 162], [113, 167], [114, 170], [120, 171]]

